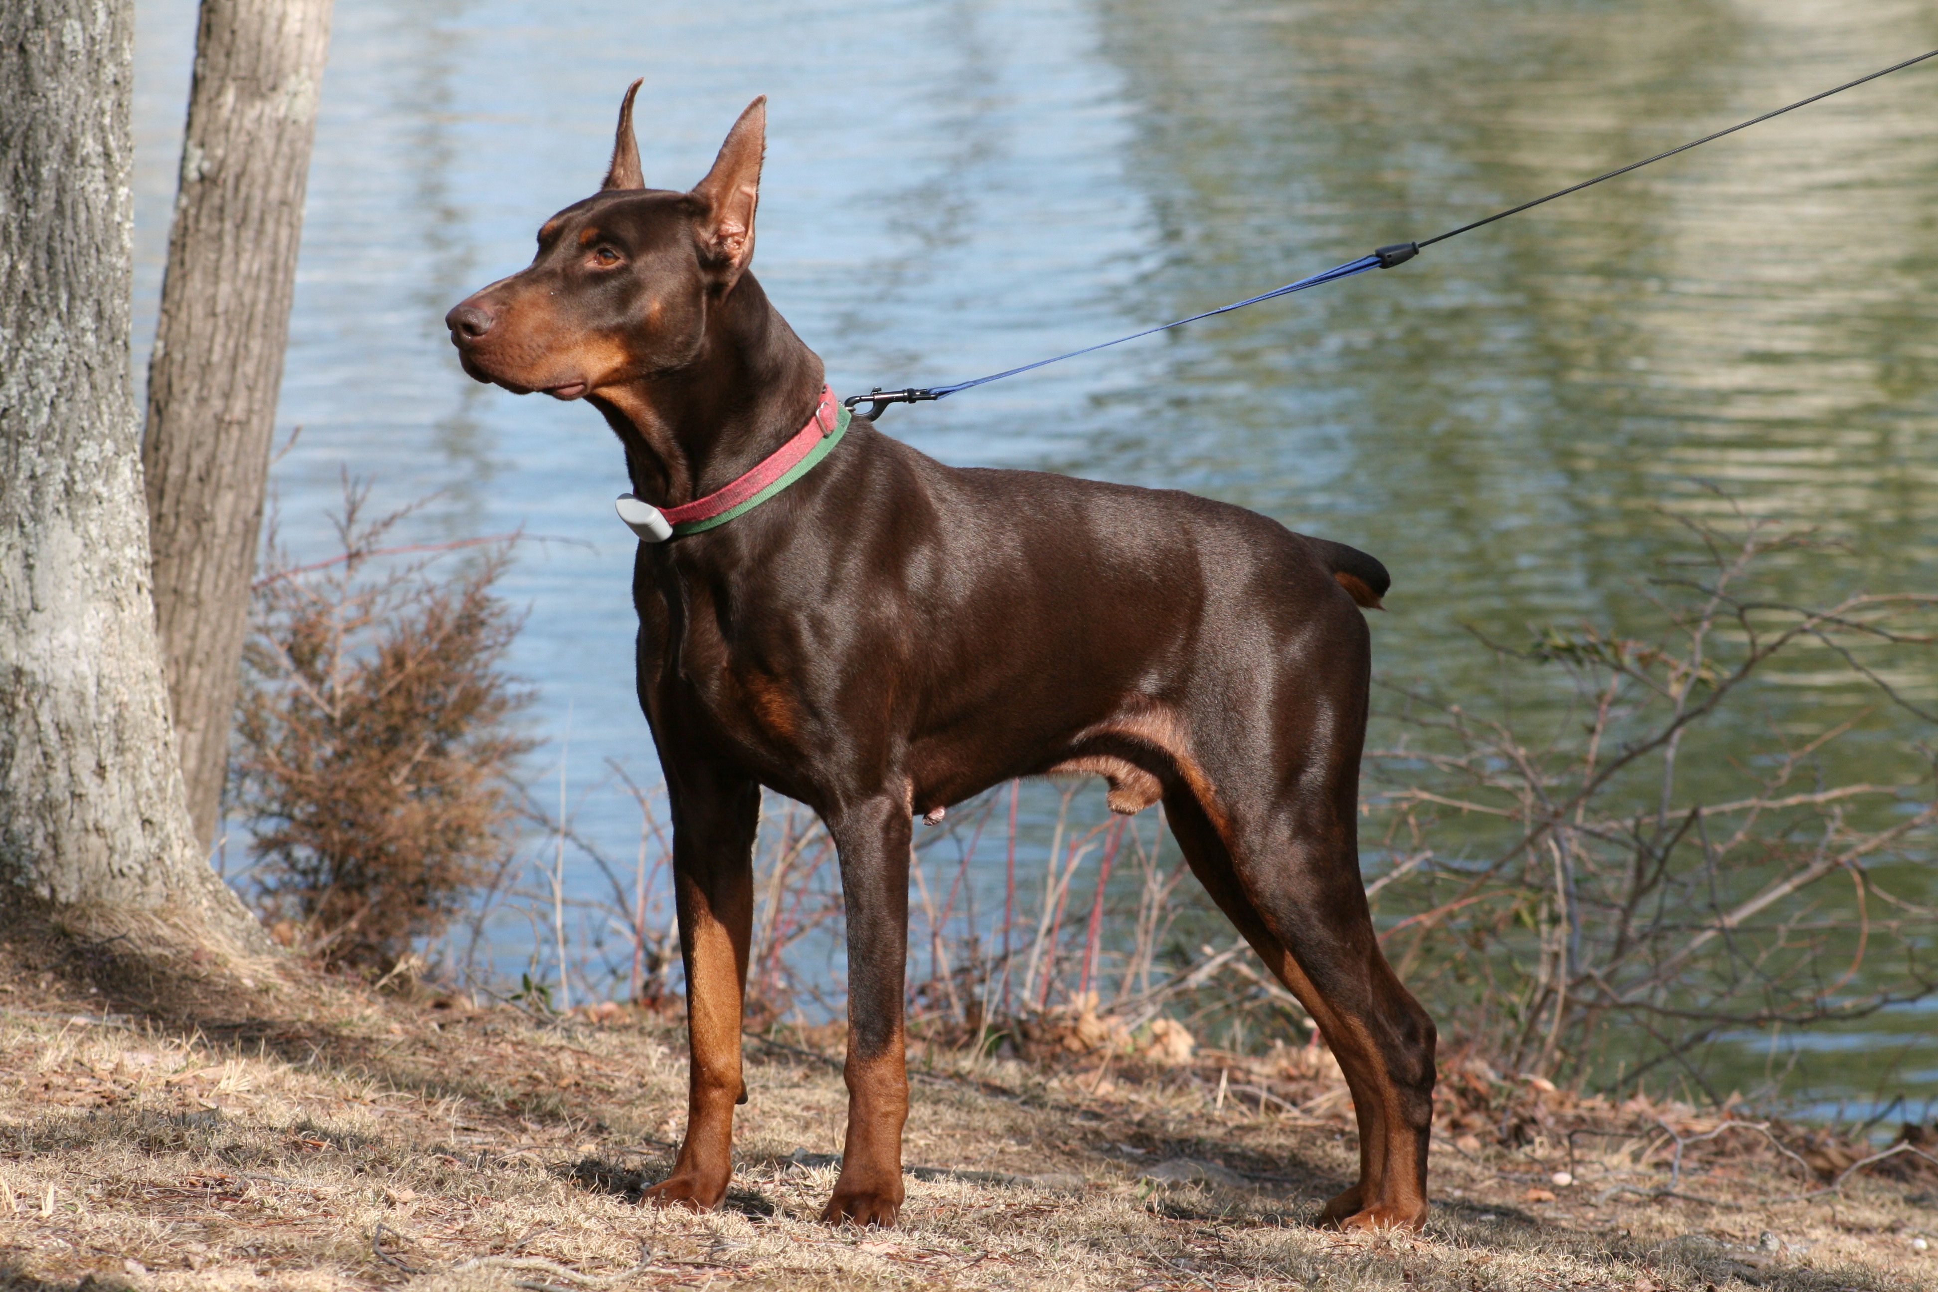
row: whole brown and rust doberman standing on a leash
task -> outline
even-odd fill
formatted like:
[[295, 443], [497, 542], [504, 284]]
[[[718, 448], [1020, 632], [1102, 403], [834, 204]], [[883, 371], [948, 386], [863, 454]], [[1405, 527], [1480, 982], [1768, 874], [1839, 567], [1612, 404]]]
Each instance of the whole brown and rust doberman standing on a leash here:
[[[640, 174], [636, 91], [601, 192], [446, 322], [479, 382], [599, 409], [634, 494], [676, 509], [797, 428], [814, 438], [831, 403], [748, 273], [766, 101], [692, 192], [665, 192]], [[1192, 872], [1339, 1058], [1360, 1166], [1324, 1218], [1421, 1224], [1434, 1025], [1380, 953], [1355, 831], [1359, 606], [1386, 587], [1364, 552], [1240, 508], [946, 467], [862, 418], [731, 523], [641, 542], [640, 705], [672, 808], [692, 1042], [686, 1139], [649, 1197], [727, 1193], [762, 786], [820, 814], [841, 860], [849, 1133], [824, 1218], [891, 1224], [913, 817], [1081, 771], [1116, 812], [1163, 802]]]

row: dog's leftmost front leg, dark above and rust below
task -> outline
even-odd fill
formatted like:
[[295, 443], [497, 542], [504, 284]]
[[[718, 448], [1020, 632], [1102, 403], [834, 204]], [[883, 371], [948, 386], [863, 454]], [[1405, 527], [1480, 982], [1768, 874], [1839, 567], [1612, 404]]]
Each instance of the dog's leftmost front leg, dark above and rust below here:
[[686, 1139], [672, 1176], [647, 1201], [719, 1207], [733, 1174], [733, 1108], [740, 1081], [740, 998], [754, 926], [754, 831], [760, 786], [711, 771], [667, 767], [672, 806], [672, 885], [686, 965], [692, 1048]]

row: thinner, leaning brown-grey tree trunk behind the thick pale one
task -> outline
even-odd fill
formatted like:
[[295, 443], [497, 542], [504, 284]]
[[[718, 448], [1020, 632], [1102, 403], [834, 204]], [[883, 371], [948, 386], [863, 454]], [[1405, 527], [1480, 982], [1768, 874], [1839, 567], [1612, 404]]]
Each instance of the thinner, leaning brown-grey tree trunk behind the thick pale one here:
[[329, 0], [202, 0], [147, 366], [149, 542], [188, 814], [215, 839]]

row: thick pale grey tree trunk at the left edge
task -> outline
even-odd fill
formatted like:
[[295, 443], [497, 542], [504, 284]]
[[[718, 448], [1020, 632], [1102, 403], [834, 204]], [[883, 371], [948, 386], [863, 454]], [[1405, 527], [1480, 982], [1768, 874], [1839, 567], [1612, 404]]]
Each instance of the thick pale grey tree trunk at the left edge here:
[[128, 380], [134, 14], [0, 2], [0, 877], [254, 922], [196, 846]]

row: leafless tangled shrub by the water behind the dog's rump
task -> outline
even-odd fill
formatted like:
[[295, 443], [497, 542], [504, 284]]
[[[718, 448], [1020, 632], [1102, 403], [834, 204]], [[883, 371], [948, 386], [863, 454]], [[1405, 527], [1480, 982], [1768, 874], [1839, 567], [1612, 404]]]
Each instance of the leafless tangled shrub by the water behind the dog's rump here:
[[[1700, 554], [1649, 583], [1649, 635], [1490, 645], [1496, 705], [1401, 692], [1368, 833], [1388, 955], [1454, 1034], [1510, 1071], [1717, 1098], [1721, 1042], [1934, 988], [1932, 750], [1876, 719], [1934, 723], [1907, 680], [1938, 597], [1797, 606], [1766, 568], [1822, 558], [1808, 533], [1686, 523]], [[1527, 703], [1554, 670], [1558, 715]]]

